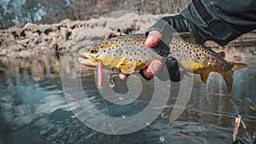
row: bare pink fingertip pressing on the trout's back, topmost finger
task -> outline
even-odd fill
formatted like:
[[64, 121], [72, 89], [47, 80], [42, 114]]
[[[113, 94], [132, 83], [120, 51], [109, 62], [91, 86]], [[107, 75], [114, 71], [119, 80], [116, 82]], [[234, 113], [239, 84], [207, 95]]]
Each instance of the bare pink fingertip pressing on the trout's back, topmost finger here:
[[153, 47], [160, 42], [162, 35], [158, 31], [151, 31], [148, 33], [145, 44], [149, 47]]

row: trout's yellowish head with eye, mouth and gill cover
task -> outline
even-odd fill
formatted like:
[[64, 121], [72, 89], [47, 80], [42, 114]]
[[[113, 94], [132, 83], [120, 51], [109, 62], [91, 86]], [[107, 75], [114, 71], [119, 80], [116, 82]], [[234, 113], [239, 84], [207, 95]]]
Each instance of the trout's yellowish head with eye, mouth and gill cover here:
[[97, 66], [99, 60], [103, 66], [110, 66], [117, 60], [113, 51], [117, 51], [117, 45], [113, 41], [102, 41], [79, 49], [79, 62], [85, 66]]

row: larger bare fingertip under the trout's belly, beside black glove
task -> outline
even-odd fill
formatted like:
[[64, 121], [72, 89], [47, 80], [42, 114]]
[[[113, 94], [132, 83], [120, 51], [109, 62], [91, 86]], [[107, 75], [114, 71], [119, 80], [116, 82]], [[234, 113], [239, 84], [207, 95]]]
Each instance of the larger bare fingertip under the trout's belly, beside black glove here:
[[154, 77], [154, 75], [159, 72], [160, 68], [162, 67], [162, 62], [160, 60], [152, 60], [148, 67], [144, 69], [144, 76], [148, 78]]

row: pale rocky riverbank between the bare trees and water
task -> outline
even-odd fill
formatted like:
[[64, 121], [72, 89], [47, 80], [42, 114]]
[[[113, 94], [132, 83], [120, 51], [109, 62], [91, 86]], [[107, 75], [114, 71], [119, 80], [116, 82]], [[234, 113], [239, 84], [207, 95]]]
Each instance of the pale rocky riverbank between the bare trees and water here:
[[[109, 14], [87, 21], [63, 20], [53, 25], [26, 24], [0, 30], [0, 56], [27, 57], [45, 53], [76, 51], [84, 45], [108, 37], [130, 33], [143, 33], [163, 15], [153, 14]], [[256, 32], [247, 33], [229, 43], [226, 48], [238, 48], [256, 54]], [[207, 43], [218, 48], [216, 43]], [[242, 49], [249, 47], [249, 49]]]

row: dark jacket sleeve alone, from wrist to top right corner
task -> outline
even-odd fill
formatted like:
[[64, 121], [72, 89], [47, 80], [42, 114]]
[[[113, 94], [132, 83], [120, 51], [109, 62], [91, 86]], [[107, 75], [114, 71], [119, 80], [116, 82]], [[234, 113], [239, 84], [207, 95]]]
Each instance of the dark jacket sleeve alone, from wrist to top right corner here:
[[192, 0], [181, 14], [203, 41], [225, 45], [256, 28], [256, 0]]

